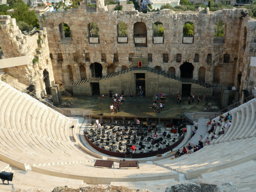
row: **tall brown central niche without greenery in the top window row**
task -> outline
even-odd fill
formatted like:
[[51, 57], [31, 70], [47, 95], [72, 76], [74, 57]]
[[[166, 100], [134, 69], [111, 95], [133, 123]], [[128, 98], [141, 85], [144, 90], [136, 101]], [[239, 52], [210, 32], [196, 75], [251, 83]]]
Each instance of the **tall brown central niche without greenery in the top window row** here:
[[147, 28], [145, 23], [134, 23], [134, 43], [135, 46], [147, 46]]

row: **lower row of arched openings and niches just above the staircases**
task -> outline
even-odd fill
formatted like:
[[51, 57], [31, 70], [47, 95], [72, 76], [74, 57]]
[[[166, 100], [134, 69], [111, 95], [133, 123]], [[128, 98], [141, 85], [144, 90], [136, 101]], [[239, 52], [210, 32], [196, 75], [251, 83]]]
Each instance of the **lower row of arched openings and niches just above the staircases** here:
[[[154, 67], [156, 70], [161, 70], [160, 66], [155, 66]], [[127, 66], [122, 66], [121, 70], [127, 69]], [[99, 63], [93, 63], [90, 65], [90, 71], [91, 71], [91, 76], [92, 77], [102, 77], [102, 70], [103, 67]], [[193, 78], [194, 66], [191, 63], [185, 62], [184, 64], [180, 65], [180, 78]], [[86, 68], [84, 65], [81, 65], [79, 67], [80, 71], [80, 78], [86, 79], [87, 74], [86, 74]], [[111, 74], [115, 72], [115, 67], [114, 66], [108, 66], [107, 67], [107, 74]], [[175, 76], [176, 70], [175, 67], [169, 67], [168, 73]], [[73, 77], [73, 70], [70, 65], [67, 65], [66, 67], [66, 74], [68, 76], [69, 81], [74, 81]], [[206, 69], [205, 67], [200, 67], [198, 69], [198, 81], [205, 81], [205, 76], [206, 76]], [[221, 67], [220, 66], [215, 66], [214, 71], [213, 71], [213, 83], [219, 84], [220, 83], [220, 78], [221, 78]]]

